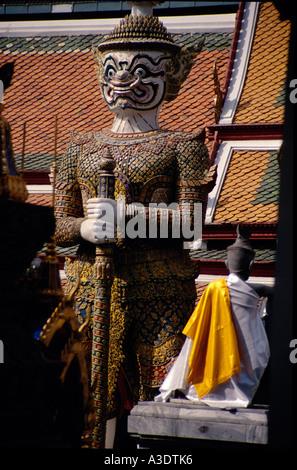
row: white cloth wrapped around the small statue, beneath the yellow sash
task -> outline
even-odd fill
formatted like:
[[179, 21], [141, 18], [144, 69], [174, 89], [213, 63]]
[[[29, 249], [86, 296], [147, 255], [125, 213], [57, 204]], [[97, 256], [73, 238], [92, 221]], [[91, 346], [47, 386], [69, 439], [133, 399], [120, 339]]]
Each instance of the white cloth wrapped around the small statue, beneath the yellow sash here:
[[270, 356], [268, 339], [258, 308], [260, 298], [252, 287], [233, 273], [228, 276], [227, 285], [241, 372], [199, 399], [194, 385], [187, 385], [188, 362], [193, 341], [186, 338], [155, 401], [167, 401], [175, 390], [180, 390], [189, 400], [218, 408], [247, 407], [251, 403]]

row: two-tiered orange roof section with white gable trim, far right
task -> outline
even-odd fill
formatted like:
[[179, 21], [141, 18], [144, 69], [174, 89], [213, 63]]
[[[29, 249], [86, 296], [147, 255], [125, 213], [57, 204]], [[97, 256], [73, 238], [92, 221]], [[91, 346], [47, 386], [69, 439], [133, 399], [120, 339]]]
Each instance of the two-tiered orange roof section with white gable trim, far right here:
[[238, 33], [220, 120], [210, 126], [218, 179], [207, 223], [276, 224], [290, 23], [272, 2], [249, 2]]

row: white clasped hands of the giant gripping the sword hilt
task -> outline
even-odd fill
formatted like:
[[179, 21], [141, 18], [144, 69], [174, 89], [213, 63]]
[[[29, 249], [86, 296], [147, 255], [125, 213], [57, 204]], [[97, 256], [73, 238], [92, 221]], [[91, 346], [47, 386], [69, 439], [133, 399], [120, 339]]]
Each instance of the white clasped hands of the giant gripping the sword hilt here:
[[92, 198], [87, 201], [87, 218], [80, 233], [84, 240], [100, 244], [115, 241], [117, 202], [113, 199]]

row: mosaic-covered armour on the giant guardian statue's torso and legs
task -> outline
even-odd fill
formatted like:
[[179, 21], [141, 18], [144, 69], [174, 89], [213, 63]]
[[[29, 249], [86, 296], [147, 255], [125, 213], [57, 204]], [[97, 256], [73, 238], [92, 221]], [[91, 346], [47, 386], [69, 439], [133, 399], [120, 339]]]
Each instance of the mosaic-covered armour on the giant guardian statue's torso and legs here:
[[[80, 237], [86, 202], [96, 197], [98, 169], [108, 147], [116, 162], [116, 190], [126, 203], [202, 202], [213, 174], [203, 136], [156, 130], [115, 134], [74, 133], [57, 175], [57, 244], [78, 245], [65, 265], [67, 291], [76, 292], [80, 324], [93, 308], [95, 246]], [[181, 239], [118, 239], [112, 287], [109, 347], [109, 415], [118, 412], [119, 378], [133, 403], [152, 399], [177, 357], [181, 334], [195, 305], [197, 265]], [[92, 341], [92, 315], [86, 351]]]

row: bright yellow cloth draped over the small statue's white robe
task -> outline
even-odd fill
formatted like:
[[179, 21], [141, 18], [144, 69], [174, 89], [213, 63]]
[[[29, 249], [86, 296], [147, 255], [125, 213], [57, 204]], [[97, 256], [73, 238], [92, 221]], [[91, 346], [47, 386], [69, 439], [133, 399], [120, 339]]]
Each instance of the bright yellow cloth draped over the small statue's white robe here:
[[183, 334], [193, 340], [187, 382], [194, 384], [199, 398], [241, 371], [225, 279], [208, 285]]

